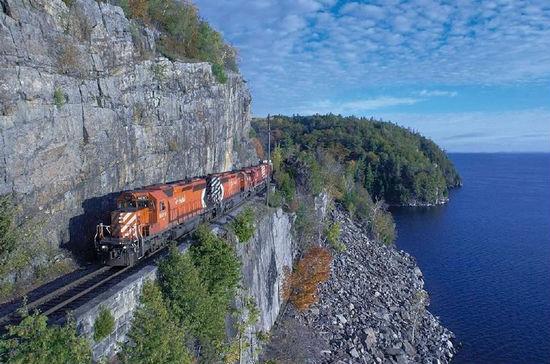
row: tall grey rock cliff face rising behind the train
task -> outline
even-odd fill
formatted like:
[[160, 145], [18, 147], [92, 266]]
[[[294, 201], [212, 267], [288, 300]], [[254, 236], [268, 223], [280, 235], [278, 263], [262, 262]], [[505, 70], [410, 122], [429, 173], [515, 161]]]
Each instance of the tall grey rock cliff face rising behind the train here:
[[83, 251], [118, 191], [255, 163], [250, 95], [94, 0], [1, 0], [0, 194]]

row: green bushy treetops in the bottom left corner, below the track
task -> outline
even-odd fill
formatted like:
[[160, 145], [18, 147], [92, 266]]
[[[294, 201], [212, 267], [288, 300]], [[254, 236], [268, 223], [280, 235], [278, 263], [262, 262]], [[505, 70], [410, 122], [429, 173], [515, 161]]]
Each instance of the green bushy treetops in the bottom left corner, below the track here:
[[45, 315], [21, 310], [22, 321], [8, 326], [0, 339], [2, 363], [91, 363], [89, 342], [78, 336], [69, 318], [64, 326], [48, 326]]

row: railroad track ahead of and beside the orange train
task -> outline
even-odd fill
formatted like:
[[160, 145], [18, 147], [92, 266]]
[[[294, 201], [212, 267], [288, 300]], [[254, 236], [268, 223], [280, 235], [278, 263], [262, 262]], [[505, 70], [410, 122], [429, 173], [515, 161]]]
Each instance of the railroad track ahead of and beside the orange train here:
[[[248, 200], [244, 200], [241, 203], [234, 206], [228, 213], [236, 210]], [[218, 220], [218, 219], [215, 219]], [[214, 222], [214, 221], [212, 221]], [[181, 239], [189, 236], [192, 231]], [[144, 265], [147, 265], [166, 253], [166, 246], [157, 250], [147, 258], [142, 259], [140, 262], [129, 267], [99, 267], [65, 285], [54, 289], [52, 292], [41, 295], [40, 297], [33, 298], [30, 302], [27, 302], [26, 306], [29, 312], [38, 310], [40, 313], [48, 316], [50, 322], [60, 322], [64, 320], [67, 313], [78, 307], [79, 304], [85, 301], [87, 296], [92, 292], [96, 293], [100, 289], [107, 289], [107, 286], [112, 286], [118, 283], [121, 279], [127, 275], [141, 269]], [[21, 305], [14, 307], [9, 313], [0, 317], [0, 331], [5, 330], [8, 325], [15, 325], [21, 321], [21, 316], [18, 308]]]

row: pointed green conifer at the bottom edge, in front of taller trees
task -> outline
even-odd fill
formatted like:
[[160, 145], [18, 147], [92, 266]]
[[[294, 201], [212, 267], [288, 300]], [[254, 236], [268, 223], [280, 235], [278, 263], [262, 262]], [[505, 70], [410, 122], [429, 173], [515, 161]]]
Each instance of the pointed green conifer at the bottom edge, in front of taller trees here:
[[140, 305], [122, 348], [125, 363], [192, 363], [185, 332], [172, 316], [158, 284], [143, 285]]

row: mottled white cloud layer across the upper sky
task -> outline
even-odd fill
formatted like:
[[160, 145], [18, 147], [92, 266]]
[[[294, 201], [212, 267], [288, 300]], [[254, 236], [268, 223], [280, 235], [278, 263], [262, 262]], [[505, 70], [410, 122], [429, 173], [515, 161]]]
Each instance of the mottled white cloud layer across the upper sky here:
[[239, 48], [258, 114], [385, 86], [434, 92], [550, 79], [547, 0], [196, 3]]

